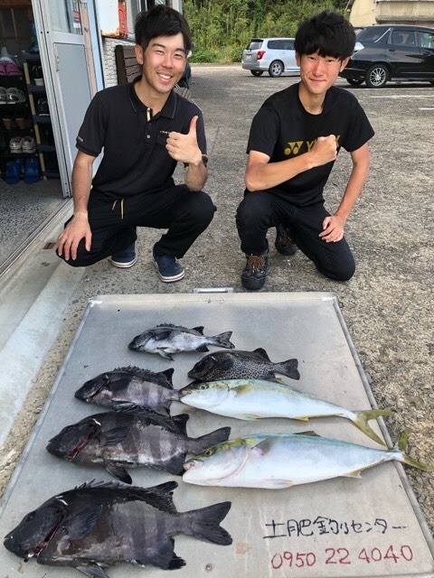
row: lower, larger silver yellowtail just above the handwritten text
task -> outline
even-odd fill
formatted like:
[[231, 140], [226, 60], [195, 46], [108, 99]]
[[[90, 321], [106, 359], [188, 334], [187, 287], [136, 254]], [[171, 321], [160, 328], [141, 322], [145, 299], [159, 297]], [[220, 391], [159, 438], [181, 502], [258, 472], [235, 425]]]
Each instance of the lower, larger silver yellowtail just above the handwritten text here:
[[219, 443], [184, 463], [183, 480], [200, 486], [283, 489], [360, 472], [384, 461], [423, 471], [434, 466], [405, 453], [409, 431], [392, 450], [307, 433], [259, 433]]

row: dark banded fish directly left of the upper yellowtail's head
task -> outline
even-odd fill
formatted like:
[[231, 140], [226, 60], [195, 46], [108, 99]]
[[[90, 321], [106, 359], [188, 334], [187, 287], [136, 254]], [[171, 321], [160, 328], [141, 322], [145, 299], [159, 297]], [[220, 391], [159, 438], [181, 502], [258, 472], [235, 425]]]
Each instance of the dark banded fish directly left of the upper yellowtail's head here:
[[171, 402], [179, 400], [172, 384], [173, 374], [173, 368], [158, 373], [142, 368], [117, 368], [90, 379], [75, 396], [88, 404], [111, 409], [149, 407], [159, 414], [169, 414]]

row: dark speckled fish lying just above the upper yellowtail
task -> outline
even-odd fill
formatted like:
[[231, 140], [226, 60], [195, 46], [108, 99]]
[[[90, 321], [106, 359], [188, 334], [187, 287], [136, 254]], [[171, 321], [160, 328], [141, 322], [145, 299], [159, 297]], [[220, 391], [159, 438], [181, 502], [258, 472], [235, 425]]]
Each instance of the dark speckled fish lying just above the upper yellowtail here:
[[198, 361], [188, 372], [188, 377], [200, 381], [273, 379], [279, 373], [287, 378], [299, 379], [297, 367], [297, 359], [273, 363], [262, 348], [254, 351], [215, 351]]

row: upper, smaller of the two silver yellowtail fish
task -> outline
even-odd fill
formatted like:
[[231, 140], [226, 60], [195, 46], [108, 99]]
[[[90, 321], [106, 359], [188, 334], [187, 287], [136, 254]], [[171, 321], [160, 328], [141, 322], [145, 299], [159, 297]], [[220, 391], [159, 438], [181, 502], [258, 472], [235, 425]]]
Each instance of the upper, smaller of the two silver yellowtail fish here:
[[309, 417], [344, 417], [382, 445], [384, 442], [368, 421], [381, 415], [392, 415], [390, 409], [351, 411], [274, 380], [227, 379], [192, 383], [183, 387], [179, 394], [180, 401], [187, 406], [243, 420], [288, 417], [307, 421]]

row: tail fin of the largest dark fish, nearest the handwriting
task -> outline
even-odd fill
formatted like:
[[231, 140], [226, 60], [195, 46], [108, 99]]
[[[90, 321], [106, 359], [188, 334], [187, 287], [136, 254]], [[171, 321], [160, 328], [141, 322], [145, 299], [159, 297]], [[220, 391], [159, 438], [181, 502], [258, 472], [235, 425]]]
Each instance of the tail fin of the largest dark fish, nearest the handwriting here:
[[231, 509], [231, 502], [213, 504], [206, 508], [193, 509], [182, 514], [182, 532], [204, 542], [230, 545], [231, 534], [220, 526], [222, 519]]

